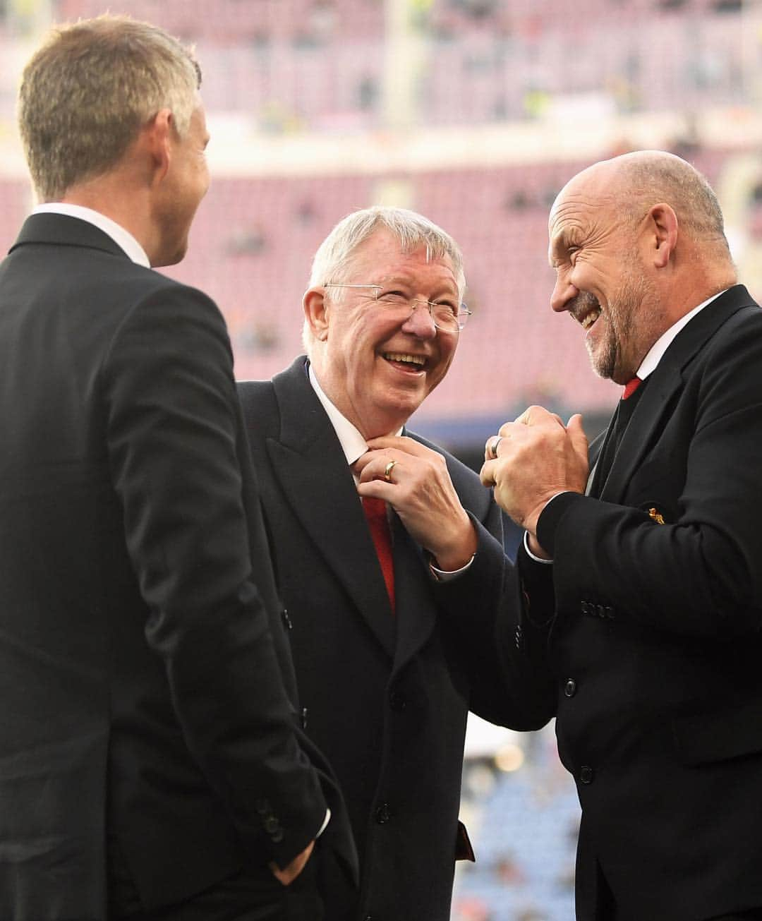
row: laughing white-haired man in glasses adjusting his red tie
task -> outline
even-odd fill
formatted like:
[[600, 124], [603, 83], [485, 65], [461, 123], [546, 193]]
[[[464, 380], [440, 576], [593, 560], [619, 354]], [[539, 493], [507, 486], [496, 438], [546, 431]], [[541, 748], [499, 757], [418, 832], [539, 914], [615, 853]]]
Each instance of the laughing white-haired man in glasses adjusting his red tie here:
[[[329, 756], [361, 855], [334, 921], [447, 921], [468, 710], [544, 722], [511, 669], [518, 592], [479, 477], [405, 424], [468, 319], [455, 241], [373, 207], [318, 249], [307, 356], [239, 384], [288, 611], [306, 732]], [[525, 699], [532, 700], [525, 706]], [[537, 707], [537, 710], [533, 709]]]

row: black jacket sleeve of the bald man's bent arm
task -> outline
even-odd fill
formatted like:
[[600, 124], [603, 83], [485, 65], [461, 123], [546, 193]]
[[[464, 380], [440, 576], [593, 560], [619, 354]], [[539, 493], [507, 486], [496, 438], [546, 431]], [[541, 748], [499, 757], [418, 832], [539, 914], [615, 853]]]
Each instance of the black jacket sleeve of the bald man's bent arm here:
[[[615, 620], [680, 635], [762, 626], [762, 317], [755, 312], [743, 335], [719, 334], [690, 372], [695, 406], [679, 411], [685, 470], [675, 469], [673, 439], [635, 472], [630, 507], [566, 494], [540, 516], [560, 612], [603, 605]], [[664, 524], [643, 510], [660, 497], [675, 508]]]

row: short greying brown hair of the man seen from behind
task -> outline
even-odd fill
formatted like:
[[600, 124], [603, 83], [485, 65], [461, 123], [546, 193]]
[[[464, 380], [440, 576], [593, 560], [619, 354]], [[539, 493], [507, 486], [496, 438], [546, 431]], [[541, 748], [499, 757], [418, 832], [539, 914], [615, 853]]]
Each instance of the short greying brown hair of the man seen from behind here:
[[42, 202], [112, 169], [160, 109], [188, 131], [201, 71], [189, 49], [145, 22], [102, 16], [52, 29], [32, 56], [18, 122]]

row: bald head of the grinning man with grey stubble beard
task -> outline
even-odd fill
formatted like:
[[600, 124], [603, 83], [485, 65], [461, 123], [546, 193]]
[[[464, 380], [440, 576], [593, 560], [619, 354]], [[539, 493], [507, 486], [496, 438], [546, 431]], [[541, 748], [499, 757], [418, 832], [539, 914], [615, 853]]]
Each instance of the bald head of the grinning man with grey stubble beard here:
[[618, 383], [670, 326], [735, 284], [714, 192], [664, 151], [583, 169], [553, 204], [548, 236], [550, 305], [582, 324], [595, 371]]

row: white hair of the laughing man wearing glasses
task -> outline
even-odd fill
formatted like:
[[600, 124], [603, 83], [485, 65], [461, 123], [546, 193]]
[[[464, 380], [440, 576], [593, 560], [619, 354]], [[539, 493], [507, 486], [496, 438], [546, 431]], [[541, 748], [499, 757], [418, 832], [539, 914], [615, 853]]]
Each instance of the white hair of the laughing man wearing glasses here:
[[[329, 282], [342, 282], [348, 278], [354, 251], [378, 230], [388, 230], [392, 233], [399, 240], [402, 252], [412, 252], [420, 246], [425, 246], [427, 261], [449, 259], [456, 276], [458, 297], [463, 299], [466, 275], [463, 270], [463, 254], [456, 241], [428, 217], [408, 208], [387, 207], [381, 204], [353, 211], [339, 221], [315, 253], [307, 286], [319, 287], [328, 285]], [[334, 302], [339, 301], [343, 297], [343, 289], [331, 288], [327, 297]], [[302, 341], [309, 353], [313, 336], [307, 322]]]

